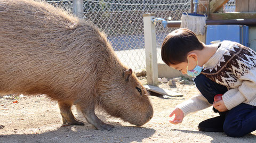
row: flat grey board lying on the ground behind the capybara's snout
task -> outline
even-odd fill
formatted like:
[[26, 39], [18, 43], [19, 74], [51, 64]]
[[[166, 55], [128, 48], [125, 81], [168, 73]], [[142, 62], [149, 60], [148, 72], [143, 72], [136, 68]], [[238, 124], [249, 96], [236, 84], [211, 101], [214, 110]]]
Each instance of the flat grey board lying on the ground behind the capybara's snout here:
[[171, 91], [171, 90], [168, 90], [168, 89], [163, 89], [163, 88], [155, 87], [155, 86], [145, 85], [143, 87], [145, 87], [149, 91], [153, 91], [153, 92], [156, 92], [157, 94], [161, 94], [161, 95], [178, 96], [178, 97], [182, 97], [183, 96], [183, 94], [181, 94], [181, 93], [174, 92], [174, 91]]

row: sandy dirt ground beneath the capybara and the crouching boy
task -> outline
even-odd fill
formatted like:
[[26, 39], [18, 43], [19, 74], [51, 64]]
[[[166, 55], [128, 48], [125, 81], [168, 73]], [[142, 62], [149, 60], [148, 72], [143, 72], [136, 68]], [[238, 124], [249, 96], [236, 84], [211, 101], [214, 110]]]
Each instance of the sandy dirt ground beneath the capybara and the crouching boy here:
[[[146, 83], [145, 78], [140, 78]], [[84, 126], [61, 127], [61, 115], [57, 102], [46, 96], [0, 97], [0, 142], [255, 142], [256, 131], [242, 138], [227, 137], [222, 132], [198, 131], [199, 122], [218, 116], [209, 107], [203, 111], [189, 114], [178, 125], [169, 123], [169, 114], [174, 107], [197, 94], [194, 84], [170, 87], [161, 83], [161, 88], [181, 92], [183, 97], [162, 98], [150, 96], [154, 108], [154, 117], [142, 127], [135, 127], [122, 120], [98, 114], [99, 118], [115, 125], [111, 131], [99, 131], [87, 123], [81, 113], [73, 109], [78, 120]], [[15, 101], [18, 103], [13, 103]]]

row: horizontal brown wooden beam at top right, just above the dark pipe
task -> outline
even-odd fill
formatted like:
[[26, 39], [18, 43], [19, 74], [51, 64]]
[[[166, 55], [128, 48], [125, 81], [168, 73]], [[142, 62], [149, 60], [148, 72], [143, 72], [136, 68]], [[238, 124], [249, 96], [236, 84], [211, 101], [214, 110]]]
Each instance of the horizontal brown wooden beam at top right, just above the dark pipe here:
[[256, 12], [229, 12], [229, 13], [210, 13], [208, 20], [228, 20], [228, 19], [255, 19]]

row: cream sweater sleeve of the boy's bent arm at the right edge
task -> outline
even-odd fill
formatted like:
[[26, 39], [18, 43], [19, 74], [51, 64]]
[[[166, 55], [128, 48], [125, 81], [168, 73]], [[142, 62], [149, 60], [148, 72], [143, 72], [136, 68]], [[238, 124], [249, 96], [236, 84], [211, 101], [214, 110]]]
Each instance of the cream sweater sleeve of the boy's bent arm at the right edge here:
[[243, 76], [239, 76], [242, 84], [238, 88], [228, 90], [223, 96], [223, 102], [231, 110], [235, 106], [250, 102], [256, 95], [256, 70], [252, 69]]

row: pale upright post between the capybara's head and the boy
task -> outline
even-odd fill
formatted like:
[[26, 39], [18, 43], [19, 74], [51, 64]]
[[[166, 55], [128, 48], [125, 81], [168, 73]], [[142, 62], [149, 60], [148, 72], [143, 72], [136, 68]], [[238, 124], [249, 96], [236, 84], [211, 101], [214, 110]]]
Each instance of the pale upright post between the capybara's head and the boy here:
[[143, 14], [147, 82], [148, 85], [158, 86], [156, 28], [151, 21], [154, 18], [155, 14]]

